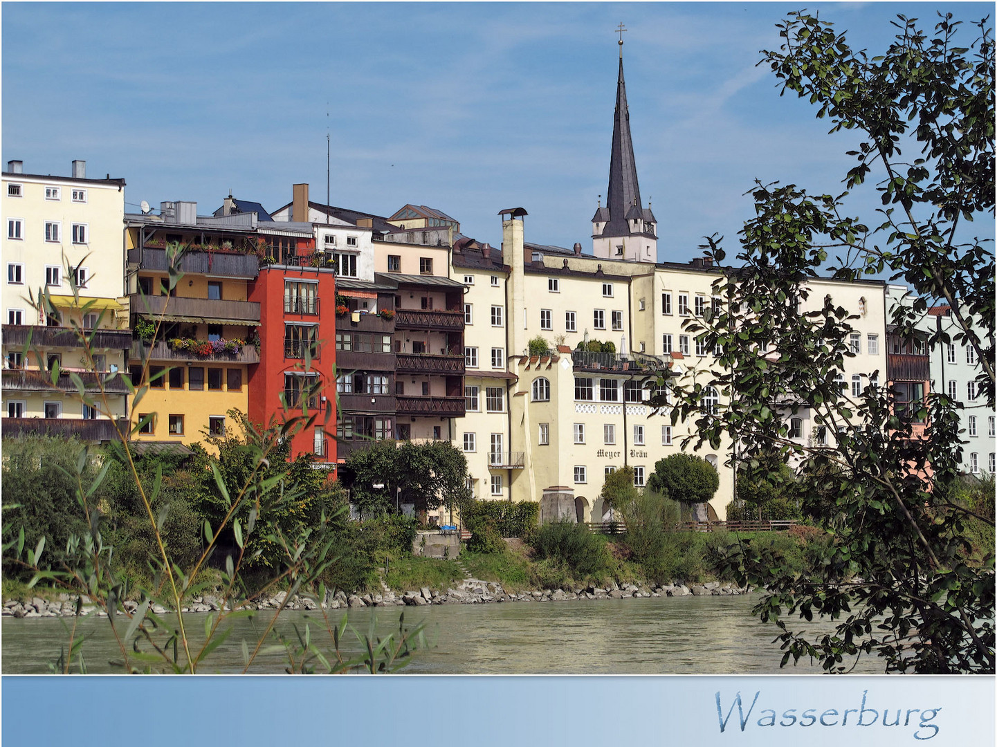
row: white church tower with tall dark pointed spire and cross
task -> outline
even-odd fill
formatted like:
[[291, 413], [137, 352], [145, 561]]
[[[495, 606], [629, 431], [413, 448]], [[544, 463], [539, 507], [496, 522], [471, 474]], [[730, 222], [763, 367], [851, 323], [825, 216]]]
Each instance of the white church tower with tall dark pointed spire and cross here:
[[616, 80], [616, 113], [613, 146], [609, 156], [609, 189], [592, 216], [592, 249], [597, 257], [634, 262], [658, 260], [658, 229], [650, 204], [644, 209], [637, 184], [637, 166], [630, 138], [630, 113], [623, 82], [623, 24], [620, 34], [620, 69]]

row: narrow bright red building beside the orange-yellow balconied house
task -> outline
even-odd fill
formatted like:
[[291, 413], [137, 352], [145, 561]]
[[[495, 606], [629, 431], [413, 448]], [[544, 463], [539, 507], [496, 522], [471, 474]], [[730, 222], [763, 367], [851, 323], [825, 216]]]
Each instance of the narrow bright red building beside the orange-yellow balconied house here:
[[[316, 415], [291, 441], [291, 459], [336, 464], [336, 275], [310, 223], [260, 222], [267, 263], [249, 289], [260, 305], [259, 363], [249, 371], [249, 419]], [[329, 435], [332, 431], [332, 437]]]

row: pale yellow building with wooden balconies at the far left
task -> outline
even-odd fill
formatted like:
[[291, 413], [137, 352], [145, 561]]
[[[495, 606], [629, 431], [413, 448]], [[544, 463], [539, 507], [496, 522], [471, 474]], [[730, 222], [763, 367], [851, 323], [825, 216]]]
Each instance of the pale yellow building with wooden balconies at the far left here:
[[[118, 437], [116, 421], [127, 434], [125, 181], [87, 179], [83, 161], [73, 162], [71, 177], [25, 174], [12, 161], [3, 173], [3, 212], [4, 435], [109, 441]], [[31, 303], [43, 291], [50, 313]], [[81, 329], [98, 330], [89, 350]]]

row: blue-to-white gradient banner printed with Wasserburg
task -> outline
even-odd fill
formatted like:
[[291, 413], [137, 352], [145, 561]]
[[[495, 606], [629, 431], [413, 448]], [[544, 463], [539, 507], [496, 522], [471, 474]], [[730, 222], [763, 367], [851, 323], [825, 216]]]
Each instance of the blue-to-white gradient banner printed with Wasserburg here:
[[994, 744], [994, 695], [969, 676], [5, 676], [2, 738], [962, 747]]

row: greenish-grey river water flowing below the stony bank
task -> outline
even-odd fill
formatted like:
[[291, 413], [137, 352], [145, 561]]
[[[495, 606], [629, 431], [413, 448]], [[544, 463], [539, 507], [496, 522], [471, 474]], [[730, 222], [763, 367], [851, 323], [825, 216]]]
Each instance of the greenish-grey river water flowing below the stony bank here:
[[[629, 599], [577, 599], [550, 602], [440, 604], [423, 607], [378, 607], [349, 610], [349, 622], [361, 633], [376, 614], [384, 634], [406, 622], [425, 621], [429, 647], [421, 650], [403, 673], [420, 674], [819, 674], [819, 666], [802, 660], [779, 668], [782, 651], [772, 643], [778, 628], [762, 624], [750, 614], [757, 597], [682, 596]], [[199, 667], [201, 673], [230, 673], [242, 669], [242, 640], [250, 650], [265, 628], [270, 612], [260, 611], [253, 621], [238, 619], [228, 639]], [[330, 610], [338, 621], [341, 610]], [[202, 635], [205, 614], [185, 616], [192, 639]], [[56, 617], [3, 618], [3, 673], [44, 673], [68, 634]], [[315, 611], [281, 613], [277, 627], [294, 635], [309, 624], [311, 639], [323, 651], [332, 648], [324, 622]], [[798, 623], [804, 624], [802, 622]], [[127, 618], [118, 629], [124, 634]], [[831, 623], [810, 625], [830, 631]], [[78, 633], [89, 636], [84, 656], [91, 673], [120, 672], [111, 665], [122, 654], [106, 617], [86, 617]], [[323, 637], [324, 636], [324, 637]], [[270, 640], [268, 643], [272, 643]], [[345, 650], [360, 651], [348, 633]], [[259, 656], [251, 672], [284, 670], [281, 652]], [[76, 667], [74, 666], [74, 671]], [[881, 672], [874, 658], [859, 661], [855, 672]]]

